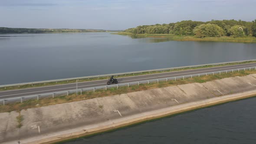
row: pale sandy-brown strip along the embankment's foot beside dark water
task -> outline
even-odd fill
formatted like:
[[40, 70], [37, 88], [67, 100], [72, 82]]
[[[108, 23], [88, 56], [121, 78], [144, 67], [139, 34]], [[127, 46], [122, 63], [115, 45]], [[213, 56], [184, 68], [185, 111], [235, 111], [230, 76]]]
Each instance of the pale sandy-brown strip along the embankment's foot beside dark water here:
[[[119, 128], [128, 127], [134, 124], [139, 124], [146, 121], [152, 121], [154, 119], [164, 118], [171, 115], [178, 115], [183, 112], [194, 111], [200, 108], [207, 108], [215, 105], [222, 105], [230, 101], [237, 101], [237, 100], [242, 100], [242, 99], [251, 98], [255, 96], [256, 96], [256, 90], [249, 91], [249, 92], [242, 92], [238, 94], [232, 94], [232, 95], [224, 95], [217, 98], [210, 98], [210, 99], [201, 100], [201, 101], [190, 102], [186, 104], [172, 106], [170, 108], [163, 108], [159, 110], [148, 111], [141, 114], [137, 114], [137, 115], [131, 116], [132, 118], [129, 118], [128, 120], [125, 120], [125, 121], [119, 120], [114, 124], [102, 125], [101, 127], [90, 128], [86, 130], [82, 130], [83, 128], [80, 128], [81, 131], [71, 130], [71, 132], [68, 134], [56, 135], [54, 137], [44, 138], [38, 141], [27, 142], [25, 144], [49, 144], [49, 143], [62, 143], [66, 141], [72, 141], [79, 137], [86, 137], [86, 136], [95, 135], [95, 134], [99, 134], [107, 131], [115, 131]], [[143, 116], [138, 116], [138, 115], [143, 115]], [[13, 143], [13, 141], [11, 143]], [[9, 144], [9, 143], [7, 142], [6, 144]]]

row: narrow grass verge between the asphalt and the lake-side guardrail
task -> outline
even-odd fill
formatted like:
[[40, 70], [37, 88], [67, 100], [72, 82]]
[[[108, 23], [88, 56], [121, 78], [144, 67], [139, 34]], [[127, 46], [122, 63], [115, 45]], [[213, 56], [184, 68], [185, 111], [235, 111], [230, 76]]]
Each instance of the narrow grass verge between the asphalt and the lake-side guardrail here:
[[[175, 71], [182, 71], [182, 70], [190, 70], [190, 69], [203, 69], [203, 68], [211, 68], [211, 67], [218, 67], [218, 66], [226, 66], [226, 65], [238, 65], [238, 64], [245, 64], [245, 63], [253, 63], [256, 61], [251, 62], [234, 62], [229, 64], [222, 64], [222, 65], [205, 65], [200, 67], [192, 67], [192, 68], [182, 68], [182, 69], [172, 69], [172, 70], [163, 70], [163, 71], [155, 71], [155, 72], [141, 72], [135, 74], [126, 74], [126, 75], [119, 75], [117, 78], [124, 78], [129, 76], [139, 76], [139, 75], [149, 75], [149, 74], [157, 74], [162, 72], [175, 72]], [[89, 78], [89, 79], [79, 79], [79, 82], [89, 82], [89, 81], [96, 81], [96, 80], [107, 80], [109, 77], [98, 77], [98, 78]], [[20, 85], [20, 86], [9, 86], [9, 87], [2, 87], [0, 91], [7, 91], [7, 90], [14, 90], [14, 89], [24, 89], [24, 88], [36, 88], [36, 87], [43, 87], [43, 86], [52, 86], [52, 85], [63, 85], [63, 84], [71, 84], [75, 83], [76, 80], [69, 80], [69, 81], [59, 81], [59, 82], [48, 82], [48, 83], [38, 83], [33, 85]]]

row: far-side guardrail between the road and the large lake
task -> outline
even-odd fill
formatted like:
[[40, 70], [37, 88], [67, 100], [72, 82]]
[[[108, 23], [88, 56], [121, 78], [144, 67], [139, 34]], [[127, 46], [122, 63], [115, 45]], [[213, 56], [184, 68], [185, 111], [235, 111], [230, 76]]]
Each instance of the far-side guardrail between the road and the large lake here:
[[190, 66], [180, 66], [180, 67], [173, 67], [173, 68], [165, 68], [165, 69], [151, 69], [151, 70], [144, 70], [144, 71], [135, 71], [135, 72], [121, 72], [121, 73], [113, 73], [113, 74], [106, 74], [106, 75], [92, 75], [92, 76], [84, 76], [84, 77], [76, 77], [76, 78], [67, 78], [67, 79], [54, 79], [54, 80], [47, 80], [47, 81], [38, 81], [38, 82], [24, 82], [24, 83], [16, 83], [16, 84], [9, 84], [9, 85], [0, 85], [0, 88], [6, 88], [9, 86], [20, 86], [20, 85], [32, 85], [33, 84], [40, 84], [40, 83], [49, 83], [49, 82], [61, 82], [61, 81], [71, 81], [71, 80], [79, 80], [79, 79], [91, 79], [91, 78], [100, 78], [100, 77], [109, 77], [111, 75], [120, 76], [120, 75], [129, 75], [129, 74], [137, 74], [143, 72], [158, 72], [158, 71], [168, 71], [172, 69], [183, 69], [183, 68], [195, 68], [195, 67], [202, 67], [208, 65], [223, 65], [223, 64], [230, 64], [230, 63], [237, 63], [237, 62], [252, 62], [256, 61], [256, 59], [251, 60], [242, 60], [242, 61], [233, 61], [233, 62], [219, 62], [219, 63], [210, 63], [210, 64], [203, 64], [203, 65], [190, 65]]

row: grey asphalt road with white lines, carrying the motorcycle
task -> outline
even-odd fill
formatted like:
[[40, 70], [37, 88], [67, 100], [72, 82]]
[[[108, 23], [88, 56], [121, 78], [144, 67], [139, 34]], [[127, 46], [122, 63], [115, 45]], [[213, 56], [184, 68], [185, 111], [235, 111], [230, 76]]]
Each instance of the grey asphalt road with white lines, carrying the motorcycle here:
[[[118, 78], [118, 83], [120, 84], [120, 83], [127, 83], [127, 82], [138, 82], [143, 80], [161, 79], [161, 78], [168, 78], [168, 77], [175, 77], [175, 76], [182, 76], [182, 75], [193, 75], [193, 74], [199, 74], [204, 72], [216, 72], [216, 71], [224, 71], [228, 69], [240, 69], [240, 68], [253, 67], [253, 66], [256, 66], [256, 63], [228, 65], [228, 66], [220, 66], [220, 67], [204, 68], [204, 69], [191, 69], [191, 70], [177, 71], [177, 72], [164, 72], [164, 73], [151, 74], [151, 75], [132, 76], [132, 77], [125, 77], [125, 78]], [[97, 86], [103, 86], [103, 85], [107, 85], [107, 80], [80, 82], [78, 83], [78, 88], [90, 88], [90, 87], [97, 87]], [[20, 96], [26, 96], [26, 95], [36, 95], [36, 94], [43, 94], [43, 93], [50, 93], [50, 92], [60, 92], [60, 91], [66, 91], [66, 90], [73, 90], [75, 88], [76, 88], [76, 84], [72, 83], [72, 84], [64, 84], [64, 85], [38, 87], [38, 88], [26, 88], [26, 89], [18, 89], [18, 90], [10, 90], [10, 91], [0, 91], [0, 99], [20, 97]]]

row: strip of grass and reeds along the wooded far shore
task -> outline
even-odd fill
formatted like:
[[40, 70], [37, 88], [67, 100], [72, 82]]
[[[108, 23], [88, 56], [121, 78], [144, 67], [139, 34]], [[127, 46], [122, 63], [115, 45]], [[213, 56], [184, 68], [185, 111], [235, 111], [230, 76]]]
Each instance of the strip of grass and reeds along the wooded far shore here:
[[243, 36], [238, 38], [222, 36], [222, 37], [206, 37], [206, 38], [196, 38], [194, 36], [177, 36], [174, 34], [139, 34], [134, 35], [131, 33], [119, 32], [112, 33], [118, 35], [128, 35], [131, 38], [144, 38], [144, 37], [158, 37], [158, 38], [167, 38], [167, 40], [176, 40], [176, 41], [210, 41], [210, 42], [236, 42], [236, 43], [256, 43], [256, 37], [253, 36]]

